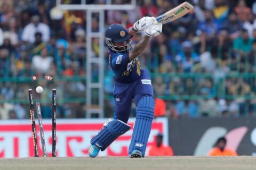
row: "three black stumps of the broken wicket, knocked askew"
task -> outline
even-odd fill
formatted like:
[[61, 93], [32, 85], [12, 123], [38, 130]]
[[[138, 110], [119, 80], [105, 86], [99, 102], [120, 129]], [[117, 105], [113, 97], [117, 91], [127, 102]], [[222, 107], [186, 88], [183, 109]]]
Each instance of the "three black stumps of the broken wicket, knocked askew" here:
[[[29, 95], [30, 119], [31, 119], [31, 126], [32, 126], [35, 157], [39, 157], [32, 89], [28, 90], [28, 95]], [[47, 157], [40, 103], [36, 103], [36, 109], [37, 109], [37, 118], [38, 118], [38, 124], [39, 124], [40, 135], [41, 135], [43, 156]], [[56, 89], [52, 89], [52, 157], [56, 157]]]

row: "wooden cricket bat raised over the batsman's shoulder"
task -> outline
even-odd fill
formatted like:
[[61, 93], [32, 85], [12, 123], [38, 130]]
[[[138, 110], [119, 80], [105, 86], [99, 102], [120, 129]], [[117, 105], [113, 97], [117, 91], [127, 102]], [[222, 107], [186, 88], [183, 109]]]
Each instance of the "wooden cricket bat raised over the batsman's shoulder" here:
[[189, 13], [191, 10], [193, 10], [193, 8], [194, 8], [193, 5], [189, 4], [188, 2], [184, 2], [179, 6], [174, 7], [172, 10], [157, 16], [156, 17], [157, 22], [155, 22], [154, 24], [157, 24], [157, 23], [166, 24], [174, 20], [177, 20], [182, 16], [186, 15], [187, 13]]

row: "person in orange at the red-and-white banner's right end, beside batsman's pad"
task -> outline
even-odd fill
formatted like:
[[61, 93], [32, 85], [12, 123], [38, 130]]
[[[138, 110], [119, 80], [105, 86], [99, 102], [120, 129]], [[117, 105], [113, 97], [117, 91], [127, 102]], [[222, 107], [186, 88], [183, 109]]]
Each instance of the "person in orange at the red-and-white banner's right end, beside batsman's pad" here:
[[170, 146], [163, 145], [163, 134], [158, 133], [156, 136], [156, 145], [152, 146], [148, 153], [149, 156], [173, 156]]

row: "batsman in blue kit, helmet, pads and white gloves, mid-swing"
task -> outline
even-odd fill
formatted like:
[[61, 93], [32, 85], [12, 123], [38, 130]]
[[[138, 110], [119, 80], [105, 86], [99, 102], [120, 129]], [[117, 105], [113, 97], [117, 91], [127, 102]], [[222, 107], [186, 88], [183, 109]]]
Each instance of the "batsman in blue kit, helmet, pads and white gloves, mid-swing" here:
[[[155, 100], [150, 75], [147, 70], [141, 69], [138, 56], [146, 48], [150, 37], [158, 36], [162, 32], [162, 24], [154, 24], [155, 21], [154, 17], [146, 16], [127, 30], [120, 24], [111, 24], [105, 32], [109, 64], [115, 79], [114, 120], [105, 123], [102, 130], [91, 139], [90, 157], [97, 157], [100, 150], [105, 150], [120, 135], [131, 129], [127, 121], [133, 99], [137, 108], [129, 157], [145, 156], [154, 118]], [[131, 37], [138, 31], [145, 32], [145, 36], [132, 48]]]

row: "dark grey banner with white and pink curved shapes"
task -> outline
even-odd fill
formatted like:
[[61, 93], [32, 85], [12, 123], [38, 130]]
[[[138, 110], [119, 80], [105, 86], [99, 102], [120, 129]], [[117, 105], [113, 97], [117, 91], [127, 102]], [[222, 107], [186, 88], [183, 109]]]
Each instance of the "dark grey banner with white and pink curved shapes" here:
[[219, 117], [169, 120], [169, 143], [174, 155], [203, 156], [218, 138], [238, 155], [256, 155], [256, 118]]

